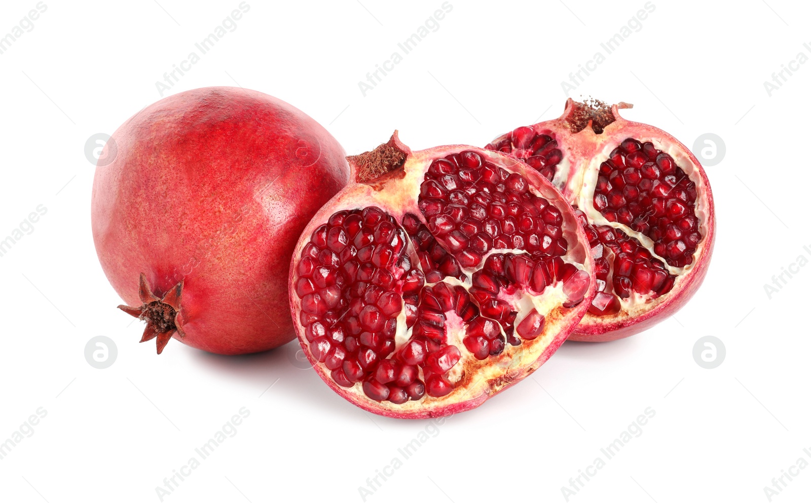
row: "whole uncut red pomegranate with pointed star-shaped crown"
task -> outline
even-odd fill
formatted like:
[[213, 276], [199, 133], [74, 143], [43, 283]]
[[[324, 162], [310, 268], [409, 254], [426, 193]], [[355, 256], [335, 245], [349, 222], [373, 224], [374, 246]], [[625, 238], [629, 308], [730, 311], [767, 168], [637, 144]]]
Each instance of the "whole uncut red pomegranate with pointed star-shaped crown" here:
[[234, 355], [293, 339], [290, 257], [349, 180], [341, 145], [290, 104], [237, 87], [169, 96], [112, 138], [93, 239], [119, 307], [147, 322], [141, 342]]

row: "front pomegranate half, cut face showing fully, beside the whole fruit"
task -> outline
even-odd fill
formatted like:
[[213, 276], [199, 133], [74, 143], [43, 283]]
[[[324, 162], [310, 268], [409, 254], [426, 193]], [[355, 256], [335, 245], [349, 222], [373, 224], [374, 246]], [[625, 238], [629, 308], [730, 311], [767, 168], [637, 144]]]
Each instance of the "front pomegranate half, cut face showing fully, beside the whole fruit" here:
[[543, 364], [586, 313], [593, 260], [549, 181], [499, 152], [349, 158], [294, 250], [290, 305], [324, 382], [384, 416], [465, 411]]

